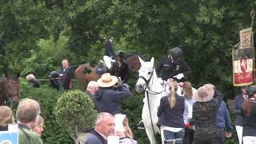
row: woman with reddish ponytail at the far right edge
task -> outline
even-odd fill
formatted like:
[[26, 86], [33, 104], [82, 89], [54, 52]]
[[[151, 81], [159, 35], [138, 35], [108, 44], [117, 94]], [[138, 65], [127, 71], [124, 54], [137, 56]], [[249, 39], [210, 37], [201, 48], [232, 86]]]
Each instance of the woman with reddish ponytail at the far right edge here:
[[245, 99], [242, 105], [242, 142], [244, 144], [252, 144], [256, 143], [256, 86], [249, 86], [246, 94], [248, 98]]

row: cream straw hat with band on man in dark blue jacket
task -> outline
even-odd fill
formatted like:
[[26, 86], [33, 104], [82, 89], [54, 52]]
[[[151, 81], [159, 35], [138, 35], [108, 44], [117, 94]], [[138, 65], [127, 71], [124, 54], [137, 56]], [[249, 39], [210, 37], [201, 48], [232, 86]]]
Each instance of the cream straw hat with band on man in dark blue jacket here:
[[99, 78], [97, 81], [97, 85], [100, 87], [110, 87], [114, 86], [118, 82], [118, 78], [116, 76], [110, 75], [110, 73], [102, 74], [102, 78]]

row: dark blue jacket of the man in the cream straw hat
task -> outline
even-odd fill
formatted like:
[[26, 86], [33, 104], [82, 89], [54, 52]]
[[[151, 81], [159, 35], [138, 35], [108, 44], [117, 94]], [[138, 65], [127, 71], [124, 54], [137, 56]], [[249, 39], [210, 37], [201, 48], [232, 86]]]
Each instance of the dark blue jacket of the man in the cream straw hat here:
[[94, 96], [94, 105], [98, 112], [107, 112], [110, 114], [120, 114], [121, 109], [118, 102], [129, 98], [130, 93], [126, 86], [120, 86], [116, 89], [113, 87], [100, 87]]

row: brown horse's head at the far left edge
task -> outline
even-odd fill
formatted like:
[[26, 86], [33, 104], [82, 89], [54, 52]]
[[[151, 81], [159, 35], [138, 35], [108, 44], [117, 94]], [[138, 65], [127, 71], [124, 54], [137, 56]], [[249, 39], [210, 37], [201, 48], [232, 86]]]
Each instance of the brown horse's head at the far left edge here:
[[0, 106], [18, 106], [19, 82], [18, 77], [0, 78]]

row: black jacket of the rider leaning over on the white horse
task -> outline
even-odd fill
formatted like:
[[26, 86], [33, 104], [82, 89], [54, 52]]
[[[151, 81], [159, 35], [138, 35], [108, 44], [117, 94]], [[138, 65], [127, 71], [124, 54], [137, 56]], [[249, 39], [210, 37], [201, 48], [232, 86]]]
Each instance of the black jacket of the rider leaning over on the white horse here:
[[[192, 69], [185, 61], [181, 60], [179, 62], [171, 62], [170, 58], [164, 57], [158, 64], [156, 69], [158, 75], [162, 70], [162, 79], [167, 80], [168, 78], [173, 78], [177, 74], [184, 74], [184, 77], [190, 77], [192, 74]], [[181, 80], [178, 80], [181, 81]]]

